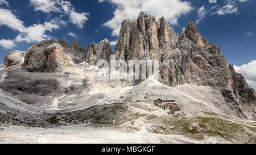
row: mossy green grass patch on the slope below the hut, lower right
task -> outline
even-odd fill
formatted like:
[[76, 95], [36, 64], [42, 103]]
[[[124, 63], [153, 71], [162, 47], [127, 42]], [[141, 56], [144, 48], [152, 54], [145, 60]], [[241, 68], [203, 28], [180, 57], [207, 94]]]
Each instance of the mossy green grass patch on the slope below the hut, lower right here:
[[147, 117], [148, 122], [154, 123], [156, 133], [186, 135], [202, 140], [204, 136], [221, 137], [231, 142], [255, 143], [256, 128], [236, 124], [229, 120], [214, 117], [197, 116], [187, 118], [183, 116]]

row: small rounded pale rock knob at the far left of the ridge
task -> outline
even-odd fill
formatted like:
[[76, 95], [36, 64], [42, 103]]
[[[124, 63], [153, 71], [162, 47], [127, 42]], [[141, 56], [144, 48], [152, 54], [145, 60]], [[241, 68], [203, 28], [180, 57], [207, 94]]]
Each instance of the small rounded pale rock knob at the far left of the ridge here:
[[18, 51], [18, 50], [13, 50], [13, 51], [8, 52], [5, 55], [5, 58], [3, 60], [3, 61], [5, 61], [4, 67], [7, 68], [10, 66], [19, 64], [20, 62], [23, 61], [24, 55], [25, 55], [25, 52]]

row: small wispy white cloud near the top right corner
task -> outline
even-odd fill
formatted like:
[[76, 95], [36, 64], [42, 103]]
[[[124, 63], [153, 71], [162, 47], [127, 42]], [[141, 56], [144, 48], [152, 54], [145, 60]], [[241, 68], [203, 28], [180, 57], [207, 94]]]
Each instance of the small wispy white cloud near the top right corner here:
[[236, 14], [237, 13], [237, 6], [234, 2], [229, 2], [225, 6], [222, 6], [217, 9], [217, 11], [213, 12], [212, 14], [217, 15], [226, 15], [226, 14]]

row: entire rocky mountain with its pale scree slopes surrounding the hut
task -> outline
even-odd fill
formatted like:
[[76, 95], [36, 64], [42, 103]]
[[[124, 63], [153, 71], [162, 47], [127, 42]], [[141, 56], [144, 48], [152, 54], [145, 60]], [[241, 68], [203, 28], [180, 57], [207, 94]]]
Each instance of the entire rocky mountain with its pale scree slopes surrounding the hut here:
[[[154, 64], [159, 66], [159, 81], [155, 73], [147, 73], [146, 79], [99, 79], [98, 75], [109, 72], [97, 66], [98, 62], [103, 59], [111, 64], [113, 57], [127, 63], [159, 60]], [[212, 143], [212, 139], [216, 143], [255, 143], [254, 89], [227, 64], [221, 48], [200, 35], [193, 22], [176, 33], [163, 17], [156, 21], [141, 12], [137, 20], [122, 22], [114, 50], [107, 39], [89, 44], [87, 49], [77, 41], [69, 45], [67, 40], [51, 39], [26, 52], [10, 51], [4, 61], [0, 66], [0, 125], [85, 124], [80, 131], [84, 134], [89, 125], [102, 135], [115, 131], [112, 139], [119, 140], [115, 135], [125, 137], [127, 132], [140, 137], [139, 141], [137, 136], [127, 139], [130, 143]], [[169, 97], [175, 98], [183, 115], [168, 115], [155, 106], [154, 100]], [[12, 127], [4, 129], [13, 131]], [[34, 132], [24, 132], [30, 130]], [[52, 130], [57, 134], [59, 128]], [[68, 131], [72, 136], [74, 128]], [[61, 128], [59, 134], [62, 132]], [[42, 129], [42, 133], [48, 131]]]

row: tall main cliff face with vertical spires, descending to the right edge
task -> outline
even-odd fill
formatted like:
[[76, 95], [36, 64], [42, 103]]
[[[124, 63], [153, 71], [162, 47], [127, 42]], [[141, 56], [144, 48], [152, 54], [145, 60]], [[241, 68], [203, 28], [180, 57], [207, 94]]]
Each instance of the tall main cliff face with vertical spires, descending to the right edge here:
[[[245, 78], [229, 67], [220, 47], [200, 35], [189, 22], [180, 35], [162, 17], [139, 14], [137, 20], [125, 20], [114, 49], [117, 59], [159, 60], [160, 82], [168, 86], [191, 83], [220, 89], [230, 110], [247, 118], [254, 116], [255, 95]], [[251, 116], [250, 116], [251, 117]]]

